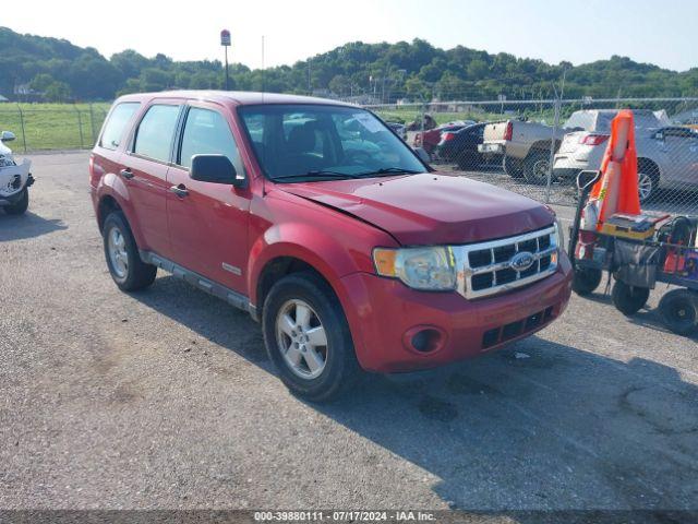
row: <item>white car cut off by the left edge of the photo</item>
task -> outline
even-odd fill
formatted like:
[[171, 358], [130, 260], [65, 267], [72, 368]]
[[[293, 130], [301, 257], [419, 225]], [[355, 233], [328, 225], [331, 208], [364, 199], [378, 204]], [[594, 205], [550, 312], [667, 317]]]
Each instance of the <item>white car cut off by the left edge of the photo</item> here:
[[29, 172], [32, 162], [25, 158], [17, 164], [12, 150], [5, 145], [14, 139], [10, 131], [0, 134], [0, 207], [10, 215], [21, 215], [29, 206], [29, 187], [34, 177]]

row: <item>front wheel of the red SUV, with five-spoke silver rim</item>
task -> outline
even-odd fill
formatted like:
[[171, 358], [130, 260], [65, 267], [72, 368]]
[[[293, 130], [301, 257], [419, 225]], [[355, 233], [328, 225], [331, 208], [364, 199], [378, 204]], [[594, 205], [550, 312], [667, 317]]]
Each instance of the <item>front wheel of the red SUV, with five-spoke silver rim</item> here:
[[274, 284], [264, 300], [262, 330], [281, 381], [302, 398], [335, 400], [359, 376], [351, 332], [339, 300], [313, 273], [294, 273]]

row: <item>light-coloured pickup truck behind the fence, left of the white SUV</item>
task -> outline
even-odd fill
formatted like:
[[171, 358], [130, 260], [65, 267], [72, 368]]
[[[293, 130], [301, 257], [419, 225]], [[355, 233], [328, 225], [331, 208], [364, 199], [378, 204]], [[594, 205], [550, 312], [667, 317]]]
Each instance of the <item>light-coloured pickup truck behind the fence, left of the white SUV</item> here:
[[[563, 128], [555, 132], [555, 150], [565, 133]], [[527, 182], [540, 184], [547, 180], [552, 142], [551, 126], [505, 120], [485, 126], [478, 151], [490, 160], [501, 157], [504, 171], [513, 178], [524, 178]]]

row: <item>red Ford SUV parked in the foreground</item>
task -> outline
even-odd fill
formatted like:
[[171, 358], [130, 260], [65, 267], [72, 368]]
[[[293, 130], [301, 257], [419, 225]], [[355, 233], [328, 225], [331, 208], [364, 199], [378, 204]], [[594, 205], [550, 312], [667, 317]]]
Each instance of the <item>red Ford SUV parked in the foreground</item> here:
[[107, 265], [160, 267], [249, 311], [294, 393], [361, 369], [429, 368], [558, 317], [569, 261], [553, 212], [434, 172], [359, 107], [266, 93], [119, 98], [89, 162]]

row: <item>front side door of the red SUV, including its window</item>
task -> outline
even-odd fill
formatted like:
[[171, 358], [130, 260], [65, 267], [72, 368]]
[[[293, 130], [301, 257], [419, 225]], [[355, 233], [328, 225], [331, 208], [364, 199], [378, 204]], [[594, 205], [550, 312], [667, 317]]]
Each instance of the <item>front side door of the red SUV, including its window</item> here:
[[[248, 212], [250, 189], [202, 182], [189, 177], [193, 155], [226, 155], [238, 172], [248, 171], [241, 159], [232, 115], [222, 106], [190, 103], [183, 115], [174, 165], [167, 194], [170, 243], [174, 260], [184, 267], [246, 295]], [[182, 192], [182, 190], [185, 191]]]

